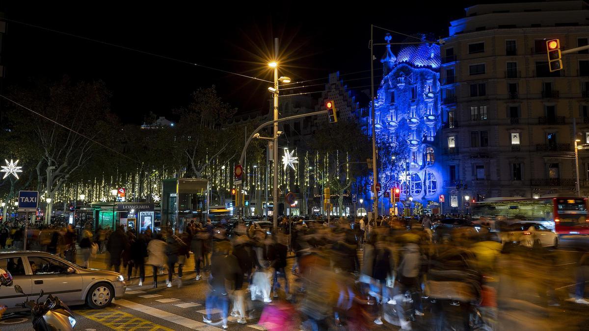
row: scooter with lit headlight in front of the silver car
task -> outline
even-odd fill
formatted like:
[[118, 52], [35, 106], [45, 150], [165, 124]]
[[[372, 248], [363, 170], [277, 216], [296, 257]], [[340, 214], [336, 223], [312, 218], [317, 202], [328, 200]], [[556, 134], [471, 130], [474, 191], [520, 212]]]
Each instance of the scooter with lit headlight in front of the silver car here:
[[[14, 290], [16, 293], [25, 294], [22, 291], [22, 287], [19, 285], [15, 285]], [[53, 295], [49, 295], [45, 302], [39, 303], [39, 299], [41, 299], [42, 296], [43, 290], [41, 290], [41, 293], [39, 293], [37, 301], [29, 301], [29, 297], [27, 295], [27, 301], [21, 304], [23, 308], [29, 307], [31, 309], [33, 316], [33, 328], [35, 331], [74, 330], [76, 321], [74, 314], [72, 314], [70, 310], [70, 307], [59, 300], [57, 296]]]

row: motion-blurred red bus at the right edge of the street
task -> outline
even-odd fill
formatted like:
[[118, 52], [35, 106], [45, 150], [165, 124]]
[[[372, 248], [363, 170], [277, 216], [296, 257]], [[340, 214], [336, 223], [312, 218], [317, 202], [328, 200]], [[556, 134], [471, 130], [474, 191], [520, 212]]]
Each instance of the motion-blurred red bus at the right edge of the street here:
[[499, 229], [498, 222], [531, 221], [542, 223], [559, 235], [589, 235], [586, 198], [489, 198], [473, 203], [472, 215], [487, 220], [491, 230]]

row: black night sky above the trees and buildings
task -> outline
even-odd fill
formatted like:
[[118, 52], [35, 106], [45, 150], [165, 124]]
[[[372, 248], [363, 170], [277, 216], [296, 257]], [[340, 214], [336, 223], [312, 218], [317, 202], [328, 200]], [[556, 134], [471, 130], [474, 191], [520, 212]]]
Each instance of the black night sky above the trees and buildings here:
[[[448, 33], [449, 19], [464, 14], [471, 2], [411, 2], [399, 7], [373, 5], [326, 6], [230, 5], [198, 2], [194, 6], [5, 5], [6, 18], [69, 34], [122, 45], [188, 62], [272, 80], [266, 59], [274, 37], [288, 59], [284, 68], [294, 81], [368, 70], [370, 24], [414, 34]], [[21, 5], [16, 5], [17, 3]], [[294, 2], [293, 2], [294, 3]], [[344, 2], [340, 2], [344, 4]], [[375, 42], [385, 31], [375, 29]], [[404, 36], [394, 35], [393, 41]], [[376, 46], [380, 59], [383, 46]], [[30, 77], [102, 79], [112, 91], [112, 109], [125, 123], [141, 123], [150, 111], [170, 116], [171, 109], [187, 105], [198, 87], [216, 85], [225, 101], [241, 112], [267, 109], [268, 83], [198, 68], [186, 63], [140, 54], [44, 29], [8, 22], [2, 64], [7, 85]], [[375, 63], [378, 68], [379, 62]], [[355, 79], [350, 87], [369, 85], [369, 72], [343, 76]], [[305, 89], [320, 91], [322, 86]], [[301, 89], [303, 91], [303, 89]], [[318, 96], [315, 94], [315, 96]]]

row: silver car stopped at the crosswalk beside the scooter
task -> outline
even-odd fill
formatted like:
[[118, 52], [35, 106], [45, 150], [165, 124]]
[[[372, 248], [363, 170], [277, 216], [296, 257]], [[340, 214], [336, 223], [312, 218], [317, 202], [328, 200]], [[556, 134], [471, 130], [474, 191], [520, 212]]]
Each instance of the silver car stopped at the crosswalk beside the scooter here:
[[[0, 268], [12, 274], [13, 284], [20, 285], [29, 298], [36, 299], [43, 290], [41, 300], [52, 294], [67, 305], [106, 307], [115, 297], [123, 296], [127, 287], [120, 273], [84, 268], [46, 252], [1, 252]], [[9, 311], [19, 310], [16, 305], [27, 299], [25, 295], [15, 293], [14, 286], [2, 286], [0, 305]]]

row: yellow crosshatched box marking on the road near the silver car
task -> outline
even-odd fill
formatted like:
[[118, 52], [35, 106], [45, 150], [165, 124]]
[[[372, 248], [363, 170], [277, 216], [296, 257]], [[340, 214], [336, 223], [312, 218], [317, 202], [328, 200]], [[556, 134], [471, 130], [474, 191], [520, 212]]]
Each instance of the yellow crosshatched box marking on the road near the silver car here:
[[133, 316], [112, 308], [100, 310], [80, 310], [80, 315], [94, 320], [113, 330], [148, 330], [148, 331], [174, 331], [165, 326], [150, 322], [149, 320]]

